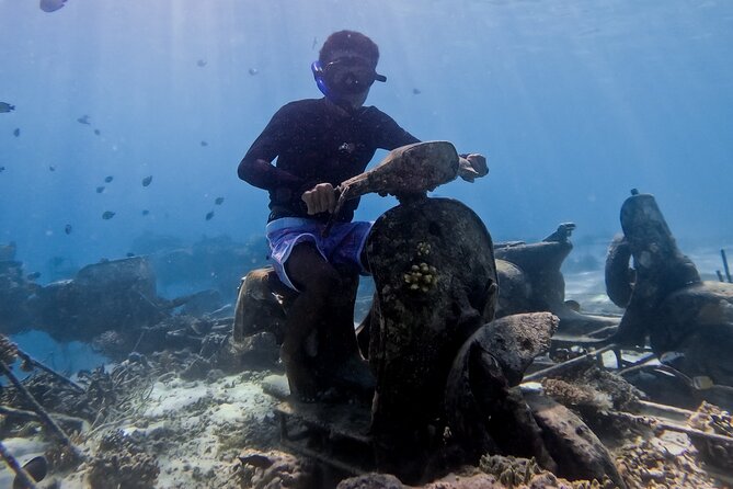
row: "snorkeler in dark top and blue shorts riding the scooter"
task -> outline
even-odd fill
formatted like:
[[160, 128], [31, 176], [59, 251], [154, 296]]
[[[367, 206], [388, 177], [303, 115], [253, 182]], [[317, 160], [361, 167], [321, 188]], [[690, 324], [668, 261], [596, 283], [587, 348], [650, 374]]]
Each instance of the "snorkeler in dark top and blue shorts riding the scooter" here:
[[[378, 60], [377, 45], [364, 34], [331, 34], [311, 65], [325, 96], [280, 107], [238, 169], [242, 180], [270, 192], [270, 260], [280, 281], [299, 292], [287, 310], [280, 357], [291, 393], [302, 400], [333, 386], [324, 378], [374, 388], [354, 333], [356, 287], [358, 274], [368, 274], [362, 253], [371, 223], [352, 223], [355, 198], [344, 204], [328, 237], [322, 230], [342, 181], [362, 173], [377, 149], [419, 143], [389, 115], [364, 106], [374, 82], [387, 80], [376, 71]], [[489, 171], [481, 155], [462, 156], [459, 167], [459, 175], [471, 182]], [[313, 332], [317, 353], [309, 340]], [[328, 372], [318, 367], [317, 354], [329, 355]]]

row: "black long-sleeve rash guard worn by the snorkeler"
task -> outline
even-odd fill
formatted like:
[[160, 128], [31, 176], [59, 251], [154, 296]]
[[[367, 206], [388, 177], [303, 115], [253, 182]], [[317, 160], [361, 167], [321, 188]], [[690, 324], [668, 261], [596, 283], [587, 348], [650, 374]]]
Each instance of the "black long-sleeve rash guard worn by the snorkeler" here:
[[[362, 173], [377, 149], [420, 140], [377, 107], [346, 113], [328, 99], [290, 102], [275, 113], [239, 163], [239, 178], [270, 192], [270, 219], [310, 217], [301, 200], [318, 183], [339, 185]], [[277, 158], [276, 166], [272, 161]], [[359, 200], [344, 204], [339, 220], [351, 221]]]

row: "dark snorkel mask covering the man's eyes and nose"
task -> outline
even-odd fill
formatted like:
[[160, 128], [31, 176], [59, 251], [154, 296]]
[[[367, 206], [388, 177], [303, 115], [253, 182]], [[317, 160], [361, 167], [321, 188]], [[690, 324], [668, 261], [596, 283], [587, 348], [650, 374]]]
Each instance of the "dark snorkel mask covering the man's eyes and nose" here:
[[333, 101], [343, 95], [363, 93], [375, 81], [387, 81], [387, 77], [377, 73], [368, 60], [358, 56], [336, 58], [325, 66], [313, 61], [310, 69], [318, 89]]

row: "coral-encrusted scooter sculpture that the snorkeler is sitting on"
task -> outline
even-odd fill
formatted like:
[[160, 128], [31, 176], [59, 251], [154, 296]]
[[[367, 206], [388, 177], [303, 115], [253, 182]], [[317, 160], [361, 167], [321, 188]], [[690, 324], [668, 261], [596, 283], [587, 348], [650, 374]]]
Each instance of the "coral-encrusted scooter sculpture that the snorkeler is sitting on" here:
[[[432, 146], [424, 147], [430, 151], [423, 156], [448, 169], [440, 175], [455, 178], [453, 145], [426, 145]], [[341, 403], [288, 399], [276, 410], [284, 444], [336, 466], [348, 465], [328, 455], [346, 456], [348, 450], [319, 453], [299, 444], [302, 436], [291, 435], [290, 425], [300, 423], [316, 430], [311, 436], [316, 443], [328, 439], [367, 445], [360, 453], [371, 453], [373, 459], [362, 457], [360, 464], [408, 482], [430, 480], [462, 463], [478, 463], [489, 451], [535, 456], [548, 469], [587, 479], [606, 476], [623, 487], [609, 453], [577, 417], [552, 409], [554, 405], [542, 401], [543, 397], [531, 405], [524, 399], [517, 385], [531, 360], [549, 349], [559, 319], [549, 312], [530, 312], [493, 320], [500, 277], [491, 236], [466, 205], [426, 196], [425, 191], [446, 177], [425, 186], [419, 186], [426, 181], [419, 178], [415, 186], [410, 185], [414, 174], [410, 164], [421, 161], [421, 145], [411, 150], [411, 158], [392, 153], [389, 167], [375, 169], [382, 174], [389, 169], [405, 179], [405, 185], [371, 187], [393, 191], [400, 205], [379, 217], [366, 244], [376, 284], [367, 318], [369, 363], [376, 376], [370, 406], [354, 399]], [[391, 168], [401, 163], [405, 164]], [[368, 174], [357, 180], [379, 182]], [[234, 346], [261, 333], [260, 328], [270, 328], [268, 321], [274, 325], [270, 332], [280, 334], [289, 297], [273, 280], [274, 272], [266, 269], [250, 272], [244, 280]], [[323, 344], [314, 345], [320, 355]], [[486, 423], [491, 417], [494, 422]], [[575, 434], [564, 433], [568, 429]]]

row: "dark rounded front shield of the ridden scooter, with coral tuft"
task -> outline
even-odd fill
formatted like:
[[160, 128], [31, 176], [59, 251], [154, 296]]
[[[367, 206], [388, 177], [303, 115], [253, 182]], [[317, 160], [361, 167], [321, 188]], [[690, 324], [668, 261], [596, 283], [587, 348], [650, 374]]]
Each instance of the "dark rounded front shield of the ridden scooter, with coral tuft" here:
[[[489, 232], [458, 201], [427, 198], [383, 214], [367, 239], [376, 284], [369, 363], [377, 377], [371, 430], [378, 464], [423, 465], [461, 344], [493, 316], [497, 285]], [[397, 373], [399, 372], [399, 375]], [[437, 427], [434, 427], [437, 429]], [[431, 440], [433, 439], [433, 440]], [[420, 462], [417, 462], [420, 460]]]

